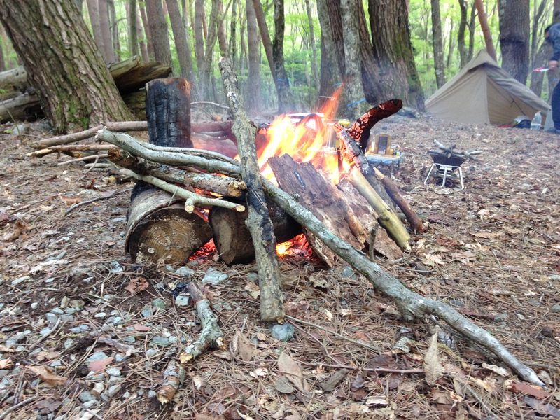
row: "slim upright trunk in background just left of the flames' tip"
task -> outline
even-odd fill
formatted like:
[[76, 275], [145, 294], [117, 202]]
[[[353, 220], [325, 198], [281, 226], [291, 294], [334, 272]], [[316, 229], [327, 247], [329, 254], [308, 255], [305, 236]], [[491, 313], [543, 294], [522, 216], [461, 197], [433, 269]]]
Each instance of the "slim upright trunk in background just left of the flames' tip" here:
[[278, 112], [295, 111], [290, 80], [284, 66], [284, 0], [273, 0], [274, 3], [274, 39], [272, 56], [274, 57], [274, 73], [276, 74], [276, 93], [278, 94]]

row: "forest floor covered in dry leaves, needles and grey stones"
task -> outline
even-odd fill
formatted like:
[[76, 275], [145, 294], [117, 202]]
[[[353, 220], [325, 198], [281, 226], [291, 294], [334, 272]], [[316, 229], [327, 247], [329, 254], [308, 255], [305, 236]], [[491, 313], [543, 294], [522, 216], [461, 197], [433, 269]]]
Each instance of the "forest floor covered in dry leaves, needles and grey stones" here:
[[[443, 376], [429, 386], [433, 324], [403, 321], [344, 262], [328, 269], [283, 258], [286, 313], [307, 323], [288, 320], [293, 338], [280, 341], [248, 287], [255, 265], [198, 253], [182, 272], [218, 279], [207, 287], [228, 350], [186, 365], [179, 391], [161, 405], [164, 370], [200, 332], [193, 308], [169, 288], [186, 277], [127, 260], [130, 193], [64, 216], [80, 200], [132, 185], [78, 164], [57, 167], [65, 155], [27, 158], [27, 144], [50, 137], [35, 123], [20, 135], [0, 126], [0, 419], [560, 417], [560, 136], [433, 118], [384, 125], [406, 153], [395, 180], [428, 229], [412, 235], [404, 258], [376, 262], [491, 332], [547, 391], [458, 335], [454, 346], [440, 344]], [[434, 139], [484, 151], [463, 164], [464, 190], [423, 184]], [[131, 294], [127, 286], [142, 279], [148, 287]]]

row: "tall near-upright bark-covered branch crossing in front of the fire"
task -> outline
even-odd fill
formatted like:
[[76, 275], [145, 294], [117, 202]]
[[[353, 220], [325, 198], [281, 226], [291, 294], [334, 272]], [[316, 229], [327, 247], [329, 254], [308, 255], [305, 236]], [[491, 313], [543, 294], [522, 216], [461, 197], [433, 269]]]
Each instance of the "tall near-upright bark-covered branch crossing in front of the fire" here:
[[265, 322], [283, 323], [281, 274], [276, 255], [276, 238], [265, 204], [255, 147], [255, 127], [249, 123], [239, 102], [237, 78], [228, 59], [220, 59], [225, 96], [233, 116], [232, 130], [237, 137], [241, 158], [241, 179], [247, 184], [247, 227], [253, 238], [260, 287], [260, 318]]

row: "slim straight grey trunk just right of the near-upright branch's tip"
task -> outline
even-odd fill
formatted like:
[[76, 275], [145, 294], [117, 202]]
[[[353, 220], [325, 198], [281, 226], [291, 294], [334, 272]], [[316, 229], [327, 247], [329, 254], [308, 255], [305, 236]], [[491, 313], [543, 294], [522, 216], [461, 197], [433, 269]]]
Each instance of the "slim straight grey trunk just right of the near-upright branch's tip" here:
[[249, 75], [247, 79], [246, 108], [255, 115], [260, 107], [260, 57], [257, 38], [257, 18], [251, 0], [246, 0], [247, 43], [249, 55]]

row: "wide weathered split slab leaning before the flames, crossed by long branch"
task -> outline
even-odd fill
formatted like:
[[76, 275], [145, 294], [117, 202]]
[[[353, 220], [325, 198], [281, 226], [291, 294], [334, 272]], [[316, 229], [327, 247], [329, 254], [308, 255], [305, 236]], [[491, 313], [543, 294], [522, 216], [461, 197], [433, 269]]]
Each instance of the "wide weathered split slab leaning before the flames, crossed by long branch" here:
[[[342, 203], [339, 190], [311, 163], [297, 163], [290, 155], [273, 156], [268, 163], [282, 190], [298, 195], [300, 204], [320, 218], [338, 237], [356, 248], [363, 248], [363, 243], [352, 232], [351, 224], [355, 222], [349, 218], [350, 210]], [[330, 267], [335, 265], [336, 254], [311, 232], [304, 230], [304, 233], [315, 253]]]

